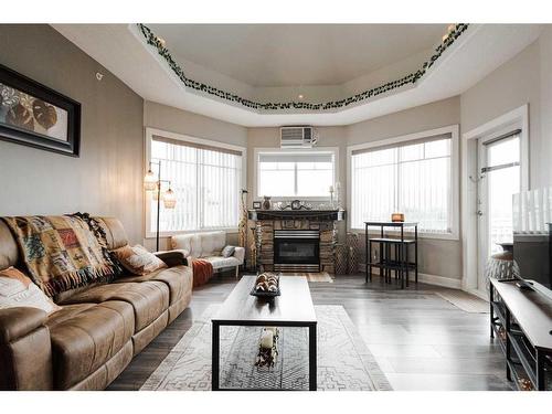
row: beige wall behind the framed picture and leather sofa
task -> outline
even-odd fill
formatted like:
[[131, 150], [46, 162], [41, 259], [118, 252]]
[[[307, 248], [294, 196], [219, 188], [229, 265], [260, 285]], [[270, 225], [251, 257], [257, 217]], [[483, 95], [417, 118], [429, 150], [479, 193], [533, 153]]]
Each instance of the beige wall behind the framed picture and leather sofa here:
[[1, 24], [0, 63], [82, 104], [79, 158], [0, 140], [0, 215], [113, 215], [141, 242], [142, 98], [45, 24]]

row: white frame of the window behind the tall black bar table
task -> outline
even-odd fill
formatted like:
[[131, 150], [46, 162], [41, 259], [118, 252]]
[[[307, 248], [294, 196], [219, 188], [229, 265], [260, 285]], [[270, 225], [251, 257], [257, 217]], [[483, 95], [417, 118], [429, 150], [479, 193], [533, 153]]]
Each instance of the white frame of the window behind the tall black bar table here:
[[[388, 147], [393, 145], [399, 145], [408, 141], [415, 141], [424, 138], [429, 138], [438, 135], [449, 134], [452, 137], [450, 142], [450, 193], [452, 200], [449, 205], [448, 214], [452, 214], [450, 220], [450, 232], [448, 233], [428, 233], [418, 232], [418, 236], [422, 238], [437, 238], [437, 240], [459, 240], [459, 227], [460, 227], [460, 180], [459, 180], [459, 125], [449, 125], [442, 128], [424, 130], [421, 132], [414, 132], [408, 135], [403, 135], [393, 138], [385, 138], [376, 141], [363, 142], [347, 147], [347, 205], [351, 209], [351, 183], [352, 183], [352, 153], [353, 151], [376, 148], [376, 147]], [[391, 220], [391, 212], [390, 212]], [[408, 220], [408, 217], [406, 217]], [[351, 227], [351, 221], [347, 222], [348, 231], [352, 232], [363, 232], [364, 229]], [[370, 233], [376, 233], [378, 230], [371, 230]], [[405, 229], [405, 232], [408, 232]], [[394, 233], [390, 231], [389, 233]]]

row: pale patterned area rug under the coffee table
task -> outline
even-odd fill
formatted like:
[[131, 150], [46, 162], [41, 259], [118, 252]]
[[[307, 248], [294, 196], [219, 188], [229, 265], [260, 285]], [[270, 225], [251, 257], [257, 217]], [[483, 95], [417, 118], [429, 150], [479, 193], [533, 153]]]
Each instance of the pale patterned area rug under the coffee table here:
[[[211, 390], [210, 306], [140, 390]], [[391, 384], [341, 306], [315, 306], [318, 317], [318, 390], [383, 391]], [[238, 389], [308, 390], [308, 331], [279, 328], [278, 359], [254, 367], [259, 327], [221, 328], [221, 385]]]

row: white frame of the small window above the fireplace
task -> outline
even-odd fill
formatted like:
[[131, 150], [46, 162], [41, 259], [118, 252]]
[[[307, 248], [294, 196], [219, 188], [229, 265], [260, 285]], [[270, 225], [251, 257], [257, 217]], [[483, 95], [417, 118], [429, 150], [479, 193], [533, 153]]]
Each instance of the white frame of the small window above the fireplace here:
[[[333, 182], [339, 181], [339, 147], [316, 147], [308, 149], [293, 149], [293, 148], [269, 148], [269, 147], [256, 147], [253, 149], [254, 158], [253, 158], [253, 194], [254, 200], [262, 200], [264, 195], [270, 197], [272, 201], [290, 201], [295, 199], [300, 199], [301, 201], [329, 201], [330, 192], [328, 189], [327, 197], [300, 197], [300, 195], [290, 195], [290, 197], [272, 197], [269, 194], [259, 194], [258, 193], [258, 158], [262, 153], [312, 153], [312, 152], [331, 152], [333, 155]], [[333, 194], [336, 199], [337, 194]]]

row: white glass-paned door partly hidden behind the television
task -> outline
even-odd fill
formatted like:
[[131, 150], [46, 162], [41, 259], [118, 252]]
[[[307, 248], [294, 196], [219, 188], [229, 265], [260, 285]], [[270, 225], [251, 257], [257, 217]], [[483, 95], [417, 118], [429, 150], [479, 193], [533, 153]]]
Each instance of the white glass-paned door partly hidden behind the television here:
[[512, 243], [512, 195], [521, 190], [520, 130], [487, 137], [478, 142], [479, 290], [485, 289], [485, 266]]

